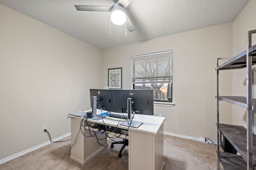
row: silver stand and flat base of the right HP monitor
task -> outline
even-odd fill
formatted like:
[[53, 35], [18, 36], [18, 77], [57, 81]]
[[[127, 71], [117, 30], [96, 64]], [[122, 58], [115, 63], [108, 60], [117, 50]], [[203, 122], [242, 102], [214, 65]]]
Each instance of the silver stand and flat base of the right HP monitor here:
[[138, 128], [143, 122], [132, 120], [132, 98], [127, 99], [127, 109], [128, 119], [126, 121], [123, 121], [119, 125]]

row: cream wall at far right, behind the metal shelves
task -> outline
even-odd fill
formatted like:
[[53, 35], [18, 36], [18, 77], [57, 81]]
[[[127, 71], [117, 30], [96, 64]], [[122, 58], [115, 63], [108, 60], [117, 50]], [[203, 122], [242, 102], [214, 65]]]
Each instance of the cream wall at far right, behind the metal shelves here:
[[[234, 21], [234, 49], [233, 55], [238, 55], [246, 50], [247, 31], [256, 29], [256, 0], [250, 0]], [[256, 44], [256, 35], [253, 35], [253, 45]], [[254, 72], [255, 75], [256, 72]], [[254, 78], [254, 80], [256, 80]], [[246, 69], [233, 71], [233, 96], [246, 96]], [[254, 90], [256, 92], [256, 90]], [[255, 94], [254, 94], [255, 98]], [[238, 106], [232, 108], [232, 123], [246, 127], [246, 109]]]

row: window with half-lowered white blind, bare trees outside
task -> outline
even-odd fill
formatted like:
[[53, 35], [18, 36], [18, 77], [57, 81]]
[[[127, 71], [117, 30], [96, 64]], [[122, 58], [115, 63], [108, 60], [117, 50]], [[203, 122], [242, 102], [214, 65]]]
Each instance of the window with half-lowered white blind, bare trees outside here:
[[133, 56], [132, 85], [154, 90], [154, 101], [172, 102], [172, 51]]

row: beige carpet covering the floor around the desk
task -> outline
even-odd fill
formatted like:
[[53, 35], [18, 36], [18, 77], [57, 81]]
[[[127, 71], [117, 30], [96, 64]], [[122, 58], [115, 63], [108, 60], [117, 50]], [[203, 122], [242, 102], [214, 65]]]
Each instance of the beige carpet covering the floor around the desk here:
[[[108, 147], [96, 156], [95, 161], [84, 166], [70, 160], [70, 141], [67, 141], [52, 143], [0, 164], [0, 170], [128, 170], [128, 147], [122, 152], [122, 158], [118, 158], [121, 145], [111, 149], [111, 141], [108, 142]], [[213, 144], [180, 138], [178, 142], [172, 142], [164, 138], [164, 170], [216, 170], [216, 150]]]

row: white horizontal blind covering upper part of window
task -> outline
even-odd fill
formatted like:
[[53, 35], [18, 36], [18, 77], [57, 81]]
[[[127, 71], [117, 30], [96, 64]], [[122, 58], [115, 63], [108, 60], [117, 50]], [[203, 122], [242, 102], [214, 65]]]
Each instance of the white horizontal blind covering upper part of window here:
[[132, 84], [172, 83], [172, 50], [132, 56]]

